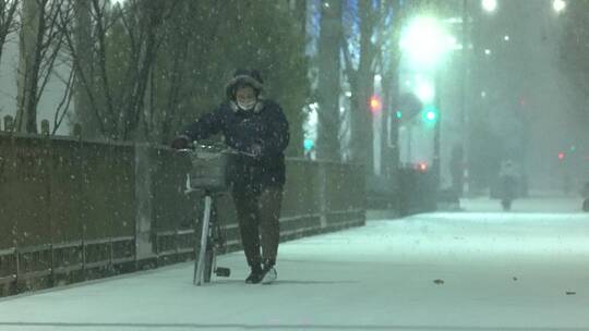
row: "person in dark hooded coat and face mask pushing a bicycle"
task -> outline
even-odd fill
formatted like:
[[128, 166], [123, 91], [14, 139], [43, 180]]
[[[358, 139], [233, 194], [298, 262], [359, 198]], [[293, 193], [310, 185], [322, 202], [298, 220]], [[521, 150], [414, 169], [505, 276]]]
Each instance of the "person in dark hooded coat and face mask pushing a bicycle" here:
[[229, 181], [251, 268], [247, 283], [271, 283], [277, 278], [284, 150], [289, 143], [288, 121], [276, 101], [262, 97], [263, 84], [259, 71], [237, 70], [226, 86], [227, 100], [187, 125], [171, 143], [182, 149], [223, 134], [227, 146], [243, 152], [232, 159]]

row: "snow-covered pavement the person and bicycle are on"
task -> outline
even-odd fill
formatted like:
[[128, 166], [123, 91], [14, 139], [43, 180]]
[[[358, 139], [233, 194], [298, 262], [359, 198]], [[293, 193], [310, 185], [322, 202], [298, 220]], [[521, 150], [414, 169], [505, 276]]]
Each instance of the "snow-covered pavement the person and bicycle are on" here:
[[589, 214], [550, 204], [469, 201], [485, 212], [285, 243], [272, 285], [243, 283], [240, 252], [220, 258], [231, 278], [203, 287], [183, 263], [9, 297], [0, 330], [589, 330]]

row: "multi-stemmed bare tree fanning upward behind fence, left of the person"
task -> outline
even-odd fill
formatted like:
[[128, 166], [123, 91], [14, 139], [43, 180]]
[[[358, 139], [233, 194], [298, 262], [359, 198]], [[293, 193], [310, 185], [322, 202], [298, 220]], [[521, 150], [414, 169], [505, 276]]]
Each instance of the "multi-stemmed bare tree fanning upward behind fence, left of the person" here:
[[[91, 0], [86, 8], [77, 3], [77, 21], [60, 20], [77, 87], [84, 90], [76, 94], [87, 98], [85, 106], [92, 109], [101, 135], [129, 139], [145, 123], [147, 85], [163, 41], [160, 26], [176, 3], [130, 0], [120, 8], [110, 7], [108, 1]], [[82, 16], [87, 13], [89, 22]], [[77, 29], [74, 22], [80, 24]], [[82, 26], [88, 23], [89, 28]], [[88, 30], [94, 40], [92, 53], [75, 35], [77, 32], [77, 36], [87, 36]]]

